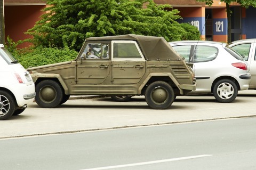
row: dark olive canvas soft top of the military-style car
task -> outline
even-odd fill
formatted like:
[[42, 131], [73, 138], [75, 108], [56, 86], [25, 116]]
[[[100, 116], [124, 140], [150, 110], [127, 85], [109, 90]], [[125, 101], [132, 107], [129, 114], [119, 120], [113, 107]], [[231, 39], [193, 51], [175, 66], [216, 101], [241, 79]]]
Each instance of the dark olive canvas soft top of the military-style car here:
[[113, 40], [133, 40], [137, 41], [147, 60], [181, 60], [173, 48], [166, 42], [164, 37], [143, 36], [135, 34], [90, 37], [85, 41], [113, 41]]

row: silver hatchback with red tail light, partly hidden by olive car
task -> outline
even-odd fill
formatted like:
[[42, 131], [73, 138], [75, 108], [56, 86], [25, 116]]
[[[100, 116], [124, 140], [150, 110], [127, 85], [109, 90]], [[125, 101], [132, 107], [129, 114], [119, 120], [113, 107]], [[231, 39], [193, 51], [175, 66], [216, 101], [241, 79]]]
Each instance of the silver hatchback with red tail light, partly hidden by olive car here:
[[238, 91], [249, 88], [251, 75], [247, 62], [226, 43], [178, 41], [169, 44], [194, 64], [197, 85], [190, 94], [213, 93], [217, 101], [228, 103], [235, 100]]

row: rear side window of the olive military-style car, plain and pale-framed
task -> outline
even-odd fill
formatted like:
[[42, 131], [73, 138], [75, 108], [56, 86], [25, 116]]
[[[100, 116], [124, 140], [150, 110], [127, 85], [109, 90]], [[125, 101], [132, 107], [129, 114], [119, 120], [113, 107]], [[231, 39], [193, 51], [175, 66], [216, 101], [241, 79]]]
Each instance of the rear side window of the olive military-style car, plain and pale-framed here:
[[141, 54], [135, 43], [118, 43], [113, 44], [113, 59], [141, 59]]

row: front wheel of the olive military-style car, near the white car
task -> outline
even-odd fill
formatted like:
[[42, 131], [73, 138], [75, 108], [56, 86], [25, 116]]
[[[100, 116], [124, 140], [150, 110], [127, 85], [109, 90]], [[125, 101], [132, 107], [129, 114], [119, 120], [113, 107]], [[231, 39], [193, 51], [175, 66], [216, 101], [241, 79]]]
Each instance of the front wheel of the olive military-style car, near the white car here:
[[63, 99], [62, 87], [54, 80], [43, 80], [36, 85], [36, 103], [42, 108], [55, 108]]

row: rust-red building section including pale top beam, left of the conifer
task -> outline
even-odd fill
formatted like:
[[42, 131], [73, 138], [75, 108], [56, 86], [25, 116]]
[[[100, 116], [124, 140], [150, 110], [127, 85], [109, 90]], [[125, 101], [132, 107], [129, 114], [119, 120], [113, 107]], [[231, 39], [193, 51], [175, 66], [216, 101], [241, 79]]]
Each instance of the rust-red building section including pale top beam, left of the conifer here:
[[[43, 14], [46, 3], [41, 0], [4, 0], [5, 39], [9, 36], [14, 42], [30, 38], [24, 34], [33, 28]], [[23, 43], [19, 47], [26, 47]]]

